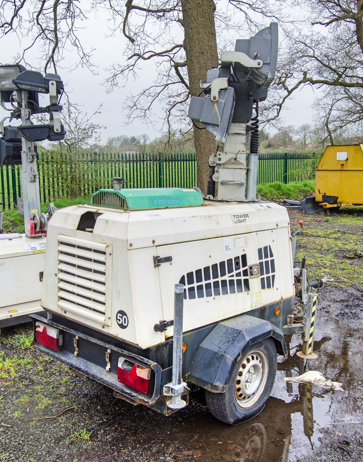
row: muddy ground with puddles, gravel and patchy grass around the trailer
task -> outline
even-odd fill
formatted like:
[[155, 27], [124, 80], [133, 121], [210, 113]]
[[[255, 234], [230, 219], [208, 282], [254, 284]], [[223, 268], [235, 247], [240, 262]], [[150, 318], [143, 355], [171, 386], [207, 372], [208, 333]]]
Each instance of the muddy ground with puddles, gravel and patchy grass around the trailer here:
[[[299, 213], [290, 218], [298, 229]], [[208, 412], [202, 393], [168, 418], [134, 407], [30, 348], [30, 327], [7, 328], [0, 345], [0, 460], [363, 461], [363, 259], [348, 258], [363, 250], [363, 212], [303, 219], [296, 260], [306, 255], [310, 276], [336, 280], [321, 290], [319, 358], [299, 359], [300, 336], [292, 336], [290, 356], [279, 359], [272, 396], [257, 417], [226, 426]], [[345, 391], [282, 380], [307, 370], [342, 382]]]

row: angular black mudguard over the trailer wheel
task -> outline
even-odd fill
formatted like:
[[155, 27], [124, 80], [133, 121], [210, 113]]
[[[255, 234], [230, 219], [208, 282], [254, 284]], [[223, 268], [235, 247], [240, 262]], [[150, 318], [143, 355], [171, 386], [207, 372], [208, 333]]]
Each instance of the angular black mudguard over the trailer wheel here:
[[277, 351], [286, 358], [284, 335], [271, 322], [248, 315], [219, 322], [198, 347], [188, 382], [212, 392], [224, 393], [230, 374], [242, 353], [250, 345], [268, 337], [272, 337]]

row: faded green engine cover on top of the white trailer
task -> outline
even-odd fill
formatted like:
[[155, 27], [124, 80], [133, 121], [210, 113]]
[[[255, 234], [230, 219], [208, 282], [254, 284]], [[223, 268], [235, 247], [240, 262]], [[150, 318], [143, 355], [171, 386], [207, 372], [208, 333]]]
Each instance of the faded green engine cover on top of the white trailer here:
[[204, 205], [203, 196], [195, 189], [135, 188], [100, 189], [92, 194], [90, 205], [146, 210], [155, 208], [197, 207]]

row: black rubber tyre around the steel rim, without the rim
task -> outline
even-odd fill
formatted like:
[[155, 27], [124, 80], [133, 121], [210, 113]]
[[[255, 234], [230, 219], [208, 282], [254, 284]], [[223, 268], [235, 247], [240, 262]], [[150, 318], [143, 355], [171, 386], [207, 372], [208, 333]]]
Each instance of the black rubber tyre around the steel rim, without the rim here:
[[[260, 393], [257, 401], [251, 403], [250, 407], [241, 407], [237, 403], [235, 395], [235, 383], [237, 373], [242, 365], [242, 362], [255, 350], [262, 350], [265, 353], [268, 371], [264, 384], [264, 388]], [[212, 393], [206, 390], [206, 403], [210, 412], [222, 422], [230, 425], [237, 425], [246, 420], [252, 419], [255, 415], [261, 412], [265, 407], [266, 401], [271, 394], [273, 383], [275, 382], [277, 371], [277, 353], [274, 341], [271, 338], [261, 340], [254, 343], [242, 353], [240, 360], [228, 381], [228, 388], [225, 393]]]

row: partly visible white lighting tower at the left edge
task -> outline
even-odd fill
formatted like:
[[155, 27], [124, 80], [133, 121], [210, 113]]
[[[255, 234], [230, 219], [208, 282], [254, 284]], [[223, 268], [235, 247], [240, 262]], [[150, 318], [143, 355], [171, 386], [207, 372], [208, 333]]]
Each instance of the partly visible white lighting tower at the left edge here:
[[[25, 234], [1, 232], [0, 213], [0, 327], [27, 322], [30, 313], [42, 310], [46, 232], [54, 208], [51, 204], [46, 213], [40, 210], [36, 141], [64, 138], [59, 104], [62, 91], [57, 74], [43, 76], [19, 64], [0, 66], [0, 103], [10, 112], [0, 122], [0, 164], [22, 164], [23, 197], [18, 198], [18, 209], [24, 214], [25, 225]], [[49, 94], [48, 106], [39, 106], [39, 93]], [[31, 116], [41, 113], [49, 114], [49, 123], [34, 125]], [[19, 120], [21, 125], [4, 126], [8, 118]]]

